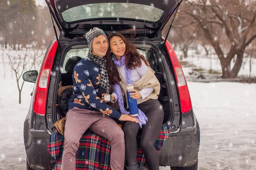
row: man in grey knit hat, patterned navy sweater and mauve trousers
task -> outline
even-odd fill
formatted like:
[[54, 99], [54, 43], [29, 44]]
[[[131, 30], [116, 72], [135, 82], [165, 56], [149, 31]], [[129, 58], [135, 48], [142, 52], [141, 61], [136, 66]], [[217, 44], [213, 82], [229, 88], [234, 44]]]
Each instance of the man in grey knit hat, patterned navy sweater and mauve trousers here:
[[[123, 170], [125, 141], [122, 129], [111, 118], [137, 122], [130, 115], [121, 114], [102, 101], [102, 94], [109, 93], [107, 73], [108, 39], [99, 28], [90, 29], [85, 35], [89, 53], [73, 71], [74, 93], [69, 100], [64, 131], [64, 151], [61, 170], [76, 169], [76, 152], [79, 140], [89, 129], [111, 142], [112, 170]], [[99, 95], [99, 96], [98, 96]]]

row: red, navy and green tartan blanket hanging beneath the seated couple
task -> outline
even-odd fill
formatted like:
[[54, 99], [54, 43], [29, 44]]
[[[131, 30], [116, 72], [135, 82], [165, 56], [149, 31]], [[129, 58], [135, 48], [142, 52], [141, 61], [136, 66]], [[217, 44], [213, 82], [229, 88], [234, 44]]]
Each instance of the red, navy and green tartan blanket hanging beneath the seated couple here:
[[[169, 126], [162, 125], [162, 129], [155, 142], [157, 152], [169, 137]], [[61, 170], [61, 157], [63, 154], [64, 136], [55, 130], [50, 136], [48, 152], [52, 155], [51, 163], [55, 170]], [[145, 165], [145, 156], [140, 148], [140, 136], [137, 136], [137, 162], [139, 167]], [[87, 130], [80, 139], [79, 149], [76, 153], [76, 170], [111, 170], [110, 168], [111, 143], [108, 139]]]

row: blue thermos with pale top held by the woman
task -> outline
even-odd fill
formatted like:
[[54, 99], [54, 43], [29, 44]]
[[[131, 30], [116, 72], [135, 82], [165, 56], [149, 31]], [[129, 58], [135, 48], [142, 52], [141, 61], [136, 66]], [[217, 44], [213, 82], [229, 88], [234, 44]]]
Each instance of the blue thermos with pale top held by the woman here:
[[128, 101], [128, 106], [129, 106], [129, 112], [131, 116], [138, 116], [139, 115], [139, 109], [138, 109], [138, 104], [137, 104], [137, 99], [133, 99], [130, 96], [130, 93], [134, 93], [133, 90], [134, 87], [133, 85], [127, 85], [126, 86], [126, 94], [127, 94], [127, 101]]

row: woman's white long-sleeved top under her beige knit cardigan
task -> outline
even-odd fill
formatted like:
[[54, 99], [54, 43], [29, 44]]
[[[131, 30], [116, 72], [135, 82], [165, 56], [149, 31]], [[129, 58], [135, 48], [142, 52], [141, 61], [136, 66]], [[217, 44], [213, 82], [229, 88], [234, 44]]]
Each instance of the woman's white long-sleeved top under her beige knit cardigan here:
[[[123, 81], [126, 83], [126, 77], [125, 77], [125, 65], [122, 65], [119, 67], [120, 74], [122, 75]], [[141, 59], [141, 67], [136, 67], [135, 69], [131, 70], [131, 83], [137, 82], [143, 77], [143, 75], [148, 71], [148, 66], [145, 64], [145, 62]], [[139, 91], [142, 99], [145, 99], [149, 94], [154, 91], [154, 88], [143, 88], [141, 91]], [[118, 97], [113, 91], [113, 96], [115, 96], [116, 101], [118, 100]], [[116, 102], [113, 101], [113, 102]]]

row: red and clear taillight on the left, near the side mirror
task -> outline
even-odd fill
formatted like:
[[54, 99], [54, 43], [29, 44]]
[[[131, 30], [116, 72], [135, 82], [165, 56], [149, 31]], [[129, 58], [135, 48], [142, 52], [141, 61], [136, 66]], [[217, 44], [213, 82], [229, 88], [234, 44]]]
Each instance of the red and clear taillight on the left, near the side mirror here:
[[58, 43], [55, 40], [45, 56], [43, 65], [38, 75], [34, 97], [34, 112], [44, 116], [46, 113], [47, 93], [49, 87], [50, 73]]

